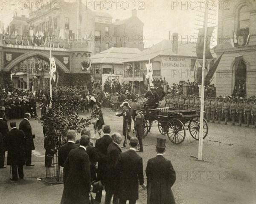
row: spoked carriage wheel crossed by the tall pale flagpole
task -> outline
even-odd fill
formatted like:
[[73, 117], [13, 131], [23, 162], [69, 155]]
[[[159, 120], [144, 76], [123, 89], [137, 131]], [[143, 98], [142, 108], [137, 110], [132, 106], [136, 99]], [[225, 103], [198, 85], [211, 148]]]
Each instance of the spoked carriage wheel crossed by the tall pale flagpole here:
[[[189, 121], [190, 135], [193, 138], [195, 138], [196, 140], [199, 140], [199, 129], [200, 129], [200, 116], [197, 116], [195, 118], [192, 118]], [[207, 124], [207, 121], [205, 119], [204, 119], [203, 131], [204, 131], [204, 138], [205, 138], [208, 134], [208, 124]]]

